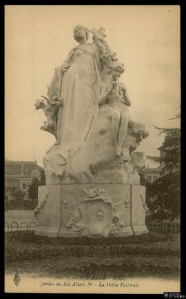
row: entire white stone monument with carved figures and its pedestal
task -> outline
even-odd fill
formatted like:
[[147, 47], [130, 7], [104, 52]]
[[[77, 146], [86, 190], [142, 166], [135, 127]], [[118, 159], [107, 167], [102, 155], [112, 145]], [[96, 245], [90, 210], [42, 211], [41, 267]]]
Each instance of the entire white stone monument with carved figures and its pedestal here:
[[55, 69], [48, 97], [37, 100], [56, 142], [43, 157], [46, 186], [39, 186], [37, 235], [109, 237], [147, 233], [145, 186], [136, 151], [148, 133], [130, 119], [130, 97], [119, 81], [123, 63], [105, 30], [74, 28], [74, 46]]

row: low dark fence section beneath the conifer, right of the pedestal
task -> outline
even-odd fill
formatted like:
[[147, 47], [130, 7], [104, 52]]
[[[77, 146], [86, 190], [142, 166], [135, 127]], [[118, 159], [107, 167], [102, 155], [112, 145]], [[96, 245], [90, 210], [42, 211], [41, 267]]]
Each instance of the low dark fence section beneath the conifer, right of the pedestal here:
[[180, 222], [149, 222], [147, 223], [147, 229], [155, 233], [180, 233]]

